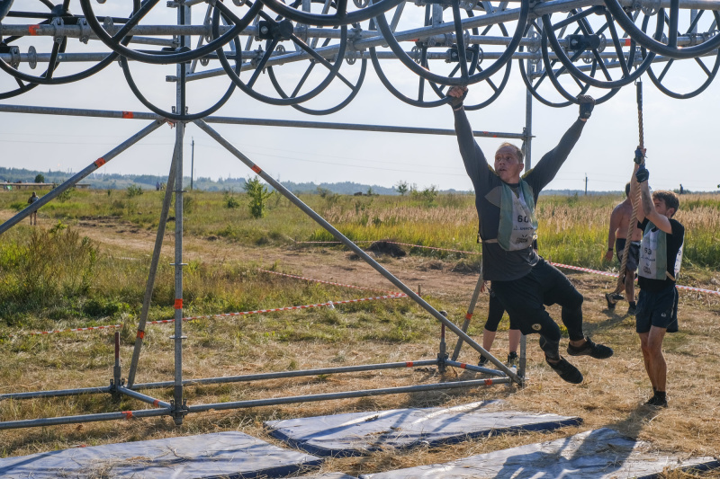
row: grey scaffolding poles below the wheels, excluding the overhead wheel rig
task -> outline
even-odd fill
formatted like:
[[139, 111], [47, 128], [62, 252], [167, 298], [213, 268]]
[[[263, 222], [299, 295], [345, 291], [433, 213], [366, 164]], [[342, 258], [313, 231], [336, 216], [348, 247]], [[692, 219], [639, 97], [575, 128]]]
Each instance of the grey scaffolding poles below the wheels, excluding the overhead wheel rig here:
[[[182, 67], [178, 67], [182, 69]], [[182, 75], [182, 71], [179, 72]], [[180, 89], [178, 89], [180, 90]], [[528, 93], [529, 97], [529, 93]], [[182, 92], [178, 92], [177, 97], [178, 108], [184, 104]], [[528, 108], [530, 108], [532, 102], [528, 100]], [[98, 158], [91, 164], [88, 164], [81, 172], [76, 173], [66, 182], [58, 185], [57, 188], [49, 191], [48, 194], [44, 195], [38, 202], [34, 203], [31, 207], [24, 208], [18, 212], [14, 217], [11, 217], [0, 225], [0, 234], [7, 231], [10, 227], [18, 224], [23, 218], [30, 215], [31, 210], [44, 206], [49, 201], [58, 197], [63, 191], [71, 188], [77, 182], [82, 181], [90, 173], [94, 173], [98, 168], [101, 168], [104, 164], [107, 164], [116, 156], [122, 152], [127, 151], [130, 146], [135, 145], [140, 139], [147, 137], [151, 132], [160, 128], [166, 123], [166, 119], [160, 118], [153, 113], [143, 112], [129, 112], [128, 111], [97, 111], [97, 110], [82, 110], [82, 109], [63, 109], [63, 108], [49, 108], [49, 107], [34, 107], [34, 106], [23, 106], [23, 105], [0, 105], [0, 113], [3, 112], [14, 112], [14, 113], [28, 113], [28, 114], [49, 114], [49, 115], [60, 115], [60, 116], [79, 116], [79, 117], [94, 117], [94, 118], [107, 118], [107, 119], [128, 119], [140, 121], [150, 121], [148, 126], [141, 129], [137, 134], [131, 136], [128, 140], [121, 143], [120, 146], [113, 148], [107, 154]], [[531, 111], [527, 112], [527, 120], [532, 119]], [[280, 182], [277, 182], [272, 176], [265, 173], [257, 164], [250, 160], [247, 155], [244, 155], [236, 146], [233, 146], [227, 139], [222, 137], [215, 129], [211, 128], [212, 123], [219, 124], [244, 124], [244, 125], [268, 125], [278, 126], [285, 128], [320, 128], [320, 129], [344, 129], [344, 130], [356, 130], [356, 131], [377, 131], [377, 132], [391, 132], [391, 133], [412, 133], [412, 134], [425, 134], [425, 135], [455, 135], [454, 130], [450, 129], [423, 129], [423, 128], [407, 128], [407, 127], [394, 127], [394, 126], [378, 126], [378, 125], [353, 125], [347, 123], [321, 123], [321, 122], [310, 122], [310, 121], [289, 121], [289, 120], [252, 120], [252, 119], [236, 119], [229, 117], [207, 117], [204, 120], [195, 120], [193, 124], [205, 132], [209, 137], [215, 140], [220, 146], [226, 148], [230, 154], [238, 158], [238, 160], [245, 164], [251, 171], [257, 173], [263, 180], [269, 183], [276, 191], [280, 192], [285, 198], [290, 200], [296, 207], [300, 208], [303, 213], [311, 217], [320, 226], [325, 228], [329, 233], [334, 235], [338, 241], [343, 243], [348, 249], [356, 253], [360, 258], [367, 262], [370, 266], [378, 271], [385, 279], [392, 282], [394, 286], [401, 289], [401, 291], [421, 306], [425, 311], [434, 316], [437, 321], [441, 324], [441, 338], [439, 344], [439, 352], [435, 359], [419, 359], [404, 362], [393, 362], [393, 363], [382, 363], [382, 364], [369, 364], [359, 366], [349, 366], [341, 368], [316, 368], [296, 371], [284, 371], [284, 372], [273, 372], [265, 374], [245, 375], [245, 376], [233, 376], [233, 377], [208, 377], [199, 379], [184, 379], [183, 378], [183, 340], [187, 339], [183, 333], [183, 137], [184, 137], [184, 123], [178, 122], [175, 124], [175, 149], [172, 155], [172, 162], [170, 166], [170, 172], [168, 175], [168, 181], [166, 186], [166, 194], [163, 201], [163, 207], [160, 213], [160, 221], [157, 226], [157, 236], [155, 247], [153, 249], [152, 259], [150, 262], [150, 269], [148, 272], [148, 281], [146, 284], [145, 295], [143, 297], [143, 306], [139, 317], [138, 332], [136, 335], [135, 346], [133, 349], [132, 359], [130, 361], [130, 368], [128, 371], [127, 384], [125, 379], [121, 375], [121, 362], [120, 362], [120, 340], [119, 333], [115, 333], [115, 363], [113, 367], [112, 379], [110, 386], [97, 386], [97, 387], [84, 387], [84, 388], [71, 388], [63, 390], [53, 391], [34, 391], [24, 393], [10, 393], [0, 395], [0, 401], [2, 400], [20, 400], [20, 399], [32, 399], [39, 397], [61, 397], [67, 395], [88, 395], [88, 394], [110, 394], [110, 395], [126, 395], [128, 397], [139, 400], [142, 403], [151, 404], [155, 409], [139, 409], [125, 412], [105, 412], [98, 414], [85, 414], [77, 416], [60, 416], [54, 418], [39, 418], [32, 420], [22, 421], [2, 421], [0, 422], [0, 430], [5, 429], [17, 429], [17, 428], [30, 428], [30, 427], [41, 427], [58, 424], [70, 424], [70, 423], [81, 423], [91, 421], [113, 421], [128, 419], [130, 417], [154, 417], [154, 416], [170, 416], [175, 421], [175, 424], [180, 425], [183, 423], [183, 418], [190, 412], [203, 412], [210, 410], [227, 410], [227, 409], [240, 409], [247, 407], [257, 407], [263, 405], [275, 405], [275, 404], [293, 404], [293, 403], [305, 403], [311, 401], [328, 401], [335, 399], [344, 399], [352, 397], [367, 397], [373, 395], [393, 395], [393, 394], [405, 394], [423, 391], [437, 391], [445, 389], [458, 389], [458, 388], [470, 388], [478, 386], [492, 386], [499, 384], [516, 384], [522, 386], [525, 380], [525, 341], [523, 339], [521, 348], [521, 359], [520, 368], [509, 368], [503, 364], [500, 359], [496, 359], [491, 355], [490, 352], [484, 350], [480, 344], [475, 342], [473, 338], [467, 335], [467, 324], [466, 320], [464, 327], [460, 328], [455, 323], [450, 321], [444, 315], [445, 312], [438, 311], [435, 307], [428, 304], [422, 297], [415, 293], [410, 287], [401, 282], [392, 275], [390, 271], [387, 271], [380, 263], [376, 262], [370, 255], [365, 253], [359, 246], [354, 244], [345, 235], [342, 235], [334, 226], [330, 225], [323, 217], [320, 217], [318, 213], [312, 210], [308, 205], [302, 202], [297, 196], [291, 191], [287, 190]], [[527, 123], [523, 133], [501, 133], [501, 132], [490, 132], [490, 131], [476, 131], [473, 132], [478, 137], [504, 137], [511, 139], [523, 139], [524, 145], [527, 151], [527, 165], [530, 164], [530, 144], [532, 137], [529, 135], [531, 131], [530, 124]], [[159, 261], [160, 249], [162, 246], [162, 238], [165, 235], [166, 219], [169, 212], [170, 204], [172, 202], [172, 196], [175, 194], [175, 332], [172, 339], [175, 342], [175, 377], [173, 381], [157, 382], [157, 383], [135, 383], [135, 377], [138, 368], [138, 361], [140, 356], [140, 350], [142, 346], [142, 340], [145, 335], [145, 325], [148, 316], [148, 308], [150, 297], [152, 296], [152, 290], [155, 283], [155, 274], [157, 272], [157, 263]], [[473, 295], [473, 308], [477, 301], [477, 295]], [[450, 330], [455, 333], [458, 337], [458, 342], [455, 346], [455, 351], [458, 351], [462, 343], [469, 344], [473, 350], [482, 354], [490, 360], [494, 365], [493, 368], [483, 368], [480, 366], [474, 366], [471, 364], [465, 364], [458, 362], [457, 352], [452, 358], [449, 358], [446, 354], [446, 330]], [[280, 398], [269, 398], [260, 400], [250, 401], [238, 401], [221, 404], [187, 404], [184, 399], [184, 387], [187, 386], [199, 386], [199, 385], [213, 385], [213, 384], [228, 384], [238, 382], [249, 382], [258, 381], [264, 379], [277, 379], [284, 377], [306, 377], [306, 376], [317, 376], [321, 374], [339, 374], [339, 373], [353, 373], [360, 371], [372, 371], [372, 370], [383, 370], [383, 369], [395, 369], [395, 368], [417, 368], [417, 367], [428, 367], [436, 366], [442, 373], [445, 372], [447, 367], [464, 368], [469, 371], [482, 373], [487, 377], [480, 379], [471, 380], [458, 380], [453, 382], [441, 382], [437, 384], [425, 384], [415, 386], [398, 386], [398, 387], [385, 387], [380, 389], [370, 390], [359, 390], [359, 391], [346, 391], [329, 394], [316, 394], [316, 395], [299, 395], [289, 396]], [[173, 387], [173, 399], [169, 401], [162, 401], [149, 395], [143, 395], [139, 393], [139, 390], [146, 389], [157, 389]]]

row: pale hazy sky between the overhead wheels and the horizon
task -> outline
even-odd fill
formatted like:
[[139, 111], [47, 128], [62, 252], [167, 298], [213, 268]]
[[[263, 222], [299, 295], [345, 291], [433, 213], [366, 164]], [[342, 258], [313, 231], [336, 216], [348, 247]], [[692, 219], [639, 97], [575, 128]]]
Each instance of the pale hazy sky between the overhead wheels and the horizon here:
[[[694, 60], [684, 60], [691, 65]], [[344, 65], [342, 72], [356, 75], [360, 62]], [[174, 104], [172, 84], [165, 75], [174, 67], [133, 64], [139, 88], [166, 109]], [[147, 71], [146, 71], [147, 70]], [[276, 68], [281, 72], [281, 68]], [[35, 74], [40, 73], [40, 68]], [[417, 76], [393, 61], [386, 73], [398, 87], [414, 88]], [[282, 70], [285, 81], [293, 82], [290, 67]], [[680, 83], [698, 83], [698, 70]], [[693, 76], [695, 75], [695, 76]], [[699, 76], [698, 76], [699, 75]], [[8, 87], [7, 75], [0, 73], [0, 85]], [[267, 82], [267, 75], [261, 82]], [[675, 100], [659, 92], [644, 75], [644, 137], [648, 148], [650, 182], [654, 189], [679, 188], [717, 191], [720, 161], [714, 141], [717, 135], [717, 105], [720, 84], [715, 82], [698, 97]], [[289, 80], [288, 80], [289, 79]], [[283, 78], [281, 77], [281, 80]], [[192, 111], [207, 108], [227, 88], [224, 78], [194, 82], [189, 89]], [[292, 85], [291, 85], [292, 87]], [[477, 93], [482, 87], [473, 87]], [[342, 95], [337, 81], [320, 93], [316, 104], [329, 105]], [[166, 93], [157, 93], [166, 92]], [[347, 92], [347, 91], [346, 91]], [[598, 91], [594, 91], [598, 94]], [[428, 93], [433, 94], [433, 93]], [[130, 92], [117, 63], [81, 82], [39, 86], [29, 93], [0, 101], [0, 104], [41, 105], [96, 110], [147, 111]], [[512, 66], [510, 81], [500, 98], [490, 106], [469, 112], [473, 129], [521, 133], [525, 125], [526, 93], [518, 65]], [[239, 90], [217, 113], [221, 116], [313, 120], [342, 123], [453, 128], [447, 106], [422, 109], [407, 105], [388, 93], [377, 80], [372, 65], [356, 99], [338, 113], [317, 117], [291, 107], [277, 107], [248, 97]], [[533, 160], [551, 149], [578, 114], [577, 107], [563, 109], [534, 102]], [[143, 120], [108, 120], [65, 116], [0, 113], [0, 165], [77, 172], [148, 124]], [[470, 190], [455, 137], [365, 133], [327, 129], [223, 126], [216, 128], [239, 150], [275, 178], [292, 182], [359, 182], [390, 187], [404, 181], [419, 188], [435, 185], [446, 190]], [[185, 175], [190, 174], [191, 141], [194, 140], [194, 175], [247, 177], [252, 172], [201, 130], [189, 126], [184, 141]], [[175, 130], [162, 127], [133, 146], [100, 171], [107, 173], [149, 173], [166, 175], [175, 141]], [[500, 138], [480, 138], [492, 157]], [[635, 86], [629, 85], [610, 101], [598, 105], [581, 140], [563, 165], [550, 189], [583, 189], [585, 178], [591, 191], [619, 191], [632, 173], [632, 157], [638, 141]], [[519, 143], [519, 142], [518, 142]]]

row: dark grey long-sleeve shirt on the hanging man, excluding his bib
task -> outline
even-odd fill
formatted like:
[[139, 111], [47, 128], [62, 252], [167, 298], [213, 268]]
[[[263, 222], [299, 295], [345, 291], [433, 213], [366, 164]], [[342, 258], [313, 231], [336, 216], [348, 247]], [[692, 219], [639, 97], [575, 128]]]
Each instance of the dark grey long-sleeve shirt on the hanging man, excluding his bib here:
[[[560, 167], [567, 159], [582, 133], [585, 122], [575, 121], [560, 142], [537, 162], [535, 168], [525, 173], [523, 180], [533, 191], [537, 202], [540, 191], [553, 181]], [[480, 226], [478, 233], [482, 241], [483, 279], [509, 281], [525, 276], [538, 261], [532, 247], [518, 251], [505, 251], [498, 243], [486, 243], [498, 237], [500, 226], [500, 193], [502, 180], [488, 164], [480, 146], [473, 137], [473, 129], [463, 109], [455, 111], [455, 133], [463, 156], [465, 171], [473, 181], [475, 189], [475, 208], [478, 210]], [[508, 186], [518, 194], [518, 183]]]

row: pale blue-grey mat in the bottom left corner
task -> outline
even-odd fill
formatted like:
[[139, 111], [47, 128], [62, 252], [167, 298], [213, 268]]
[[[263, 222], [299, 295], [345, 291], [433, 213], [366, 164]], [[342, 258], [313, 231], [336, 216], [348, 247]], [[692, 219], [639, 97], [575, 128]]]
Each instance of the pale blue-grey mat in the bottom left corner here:
[[189, 479], [284, 477], [322, 459], [242, 432], [142, 440], [0, 459], [0, 477]]

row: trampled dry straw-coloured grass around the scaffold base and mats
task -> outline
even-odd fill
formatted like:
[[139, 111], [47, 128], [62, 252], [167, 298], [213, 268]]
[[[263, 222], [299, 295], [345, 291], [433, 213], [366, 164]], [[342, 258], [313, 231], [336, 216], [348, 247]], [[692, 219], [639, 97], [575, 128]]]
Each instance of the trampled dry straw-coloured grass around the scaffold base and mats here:
[[[449, 214], [449, 213], [448, 213]], [[565, 213], [563, 213], [564, 215]], [[569, 214], [569, 213], [568, 213]], [[558, 213], [559, 215], [559, 213]], [[560, 216], [563, 216], [560, 215]], [[689, 220], [689, 219], [688, 219]], [[690, 221], [690, 220], [689, 220]], [[85, 234], [90, 234], [85, 231]], [[151, 248], [152, 235], [142, 232], [121, 233], [105, 230], [94, 234], [101, 249], [115, 256], [137, 256]], [[171, 239], [171, 238], [170, 238]], [[259, 253], [237, 244], [207, 242], [188, 238], [187, 256], [193, 262], [218, 261], [220, 258], [245, 259], [267, 264], [277, 262], [284, 271], [304, 273], [318, 279], [335, 279], [363, 286], [387, 285], [365, 264], [348, 262], [346, 253], [335, 250], [288, 251], [266, 248]], [[383, 265], [413, 287], [422, 284], [423, 294], [438, 308], [446, 309], [460, 323], [473, 291], [473, 274], [450, 272], [454, 264], [427, 259], [383, 257]], [[705, 273], [708, 280], [720, 283], [717, 271]], [[175, 427], [168, 418], [110, 421], [82, 425], [53, 426], [0, 432], [0, 456], [14, 457], [74, 447], [121, 441], [159, 439], [221, 430], [241, 430], [268, 442], [262, 422], [268, 420], [370, 411], [396, 407], [452, 406], [482, 399], [503, 399], [507, 407], [528, 412], [554, 412], [577, 415], [580, 427], [563, 428], [550, 433], [527, 432], [501, 434], [473, 439], [453, 446], [414, 448], [409, 451], [387, 450], [366, 457], [329, 459], [321, 472], [342, 471], [350, 475], [372, 473], [401, 467], [435, 464], [510, 448], [523, 444], [567, 437], [582, 430], [611, 427], [628, 436], [650, 441], [653, 448], [667, 450], [681, 457], [720, 456], [720, 297], [701, 293], [680, 293], [680, 333], [669, 335], [665, 354], [669, 364], [669, 399], [667, 410], [652, 411], [641, 404], [650, 395], [644, 373], [632, 318], [605, 310], [602, 293], [615, 287], [615, 280], [585, 273], [573, 273], [573, 282], [586, 298], [584, 305], [586, 333], [594, 340], [612, 346], [616, 354], [606, 361], [580, 358], [573, 362], [586, 377], [581, 386], [563, 383], [546, 368], [536, 345], [528, 338], [527, 386], [493, 386], [469, 391], [438, 392], [423, 395], [389, 395], [365, 399], [348, 399], [314, 404], [291, 404], [227, 412], [206, 412], [188, 416], [184, 425]], [[707, 283], [695, 283], [701, 287]], [[357, 297], [349, 295], [347, 297]], [[336, 299], [336, 297], [328, 297]], [[396, 303], [398, 302], [398, 303]], [[388, 307], [398, 308], [408, 299], [393, 300]], [[471, 332], [482, 329], [487, 297], [483, 295], [476, 311]], [[264, 306], [265, 307], [265, 306]], [[560, 318], [556, 306], [550, 308]], [[427, 314], [411, 307], [401, 315], [383, 315], [382, 308], [344, 309], [335, 312], [315, 309], [242, 318], [199, 320], [185, 324], [189, 336], [185, 342], [185, 378], [216, 377], [277, 371], [290, 368], [356, 365], [374, 362], [430, 359], [437, 355], [437, 324]], [[126, 318], [132, 324], [133, 318]], [[401, 323], [401, 324], [400, 324]], [[505, 326], [505, 324], [503, 324]], [[173, 345], [167, 339], [169, 325], [148, 328], [146, 347], [140, 359], [138, 382], [166, 381], [173, 375]], [[337, 329], [339, 337], [325, 337], [325, 328]], [[402, 341], [378, 341], [374, 336], [390, 336], [395, 329], [409, 333]], [[299, 339], [283, 337], [292, 331]], [[411, 334], [410, 334], [411, 333]], [[303, 336], [304, 334], [304, 336]], [[383, 337], [385, 337], [383, 336]], [[134, 340], [133, 326], [122, 332], [121, 357], [123, 376], [127, 372]], [[478, 337], [479, 339], [479, 337]], [[450, 341], [450, 346], [454, 344]], [[564, 344], [564, 341], [563, 341]], [[503, 358], [507, 350], [506, 335], [500, 332], [493, 351]], [[477, 354], [467, 348], [461, 359], [474, 361]], [[112, 377], [112, 333], [63, 333], [52, 336], [16, 339], [0, 343], [0, 394], [67, 387], [105, 386]], [[403, 386], [418, 382], [437, 382], [455, 375], [473, 377], [466, 371], [450, 371], [437, 376], [430, 368], [402, 369], [265, 381], [244, 385], [198, 386], [186, 389], [190, 404], [303, 395], [330, 391]], [[168, 390], [148, 391], [168, 400]], [[123, 399], [115, 404], [104, 395], [0, 402], [0, 420], [31, 419], [56, 415], [120, 411], [144, 407]], [[680, 473], [671, 478], [689, 477]], [[713, 472], [704, 477], [720, 477]]]

